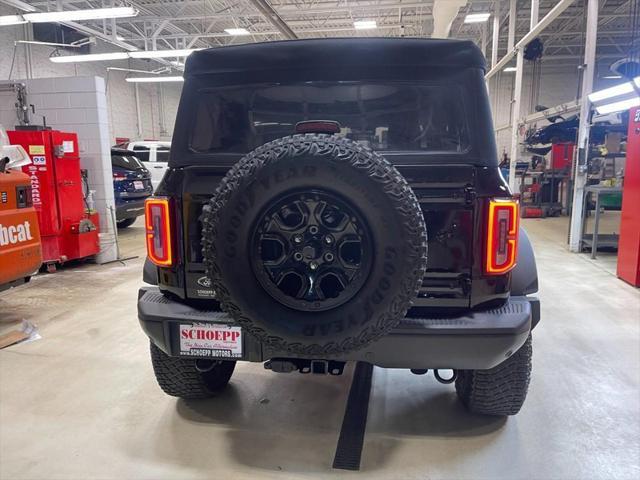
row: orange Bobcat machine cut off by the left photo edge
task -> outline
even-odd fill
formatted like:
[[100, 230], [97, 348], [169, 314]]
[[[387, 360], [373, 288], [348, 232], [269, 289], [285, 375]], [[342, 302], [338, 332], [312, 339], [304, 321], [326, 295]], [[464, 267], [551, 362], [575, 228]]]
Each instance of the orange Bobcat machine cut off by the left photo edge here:
[[31, 179], [20, 169], [30, 162], [21, 146], [8, 144], [0, 127], [0, 291], [29, 281], [42, 264]]

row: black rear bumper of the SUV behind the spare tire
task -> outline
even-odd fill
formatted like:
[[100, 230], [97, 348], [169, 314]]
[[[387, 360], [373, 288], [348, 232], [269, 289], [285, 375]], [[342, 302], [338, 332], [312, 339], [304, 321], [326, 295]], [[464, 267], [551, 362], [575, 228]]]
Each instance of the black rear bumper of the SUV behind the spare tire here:
[[[151, 341], [173, 356], [180, 354], [180, 325], [234, 324], [224, 312], [198, 310], [175, 302], [157, 287], [140, 289], [138, 318]], [[539, 319], [537, 298], [511, 297], [500, 308], [456, 318], [404, 318], [390, 333], [365, 348], [322, 360], [365, 361], [385, 368], [487, 369], [518, 350]], [[267, 350], [255, 338], [244, 336], [241, 360], [264, 362], [290, 356]]]

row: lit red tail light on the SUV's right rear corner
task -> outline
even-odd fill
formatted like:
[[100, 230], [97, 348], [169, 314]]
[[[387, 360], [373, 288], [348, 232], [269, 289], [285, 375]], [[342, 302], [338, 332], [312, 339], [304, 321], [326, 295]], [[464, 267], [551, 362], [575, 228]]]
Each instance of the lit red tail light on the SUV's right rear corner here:
[[501, 275], [516, 265], [518, 252], [518, 202], [494, 199], [489, 202], [485, 273]]

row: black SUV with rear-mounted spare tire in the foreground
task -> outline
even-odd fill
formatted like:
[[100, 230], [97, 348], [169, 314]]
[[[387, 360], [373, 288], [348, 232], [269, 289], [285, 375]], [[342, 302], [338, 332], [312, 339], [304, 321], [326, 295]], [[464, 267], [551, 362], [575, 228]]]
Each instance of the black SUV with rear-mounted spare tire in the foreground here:
[[[236, 361], [362, 361], [520, 410], [539, 303], [468, 41], [318, 39], [193, 53], [147, 201], [139, 319], [169, 395]], [[517, 263], [516, 263], [517, 259]], [[452, 369], [443, 379], [438, 369]]]

